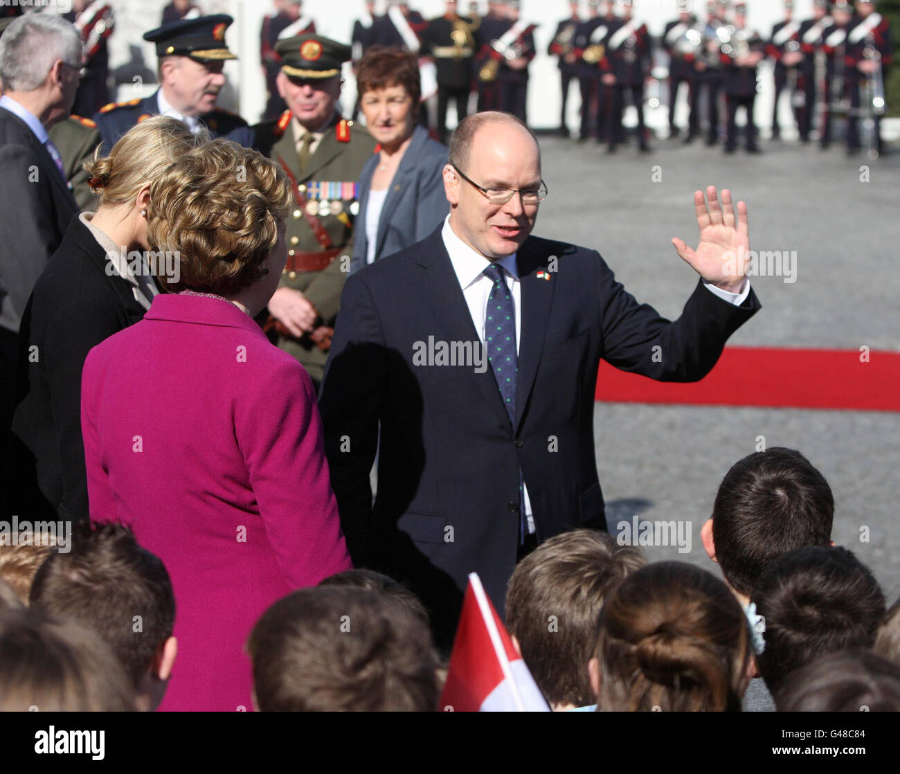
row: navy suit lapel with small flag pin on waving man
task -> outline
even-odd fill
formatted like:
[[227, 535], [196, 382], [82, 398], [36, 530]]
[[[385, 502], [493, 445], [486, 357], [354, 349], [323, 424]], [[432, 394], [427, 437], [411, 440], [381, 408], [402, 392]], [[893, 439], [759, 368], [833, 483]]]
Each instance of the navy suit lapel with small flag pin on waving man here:
[[[525, 244], [518, 251], [516, 263], [522, 291], [522, 340], [518, 345], [518, 382], [516, 383], [516, 427], [518, 428], [527, 401], [531, 396], [531, 389], [535, 384], [537, 366], [540, 365], [541, 356], [544, 354], [544, 342], [556, 283], [554, 283], [552, 273], [545, 271], [543, 276], [537, 276], [539, 269], [546, 269], [547, 256], [539, 255], [536, 252], [533, 239], [526, 239]], [[551, 279], [547, 280], [545, 277]]]

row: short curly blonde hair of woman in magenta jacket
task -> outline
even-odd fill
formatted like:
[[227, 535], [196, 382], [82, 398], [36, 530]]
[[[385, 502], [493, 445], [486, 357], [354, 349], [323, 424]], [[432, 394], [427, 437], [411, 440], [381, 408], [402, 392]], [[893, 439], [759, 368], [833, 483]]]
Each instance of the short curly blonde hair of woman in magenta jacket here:
[[166, 290], [238, 293], [259, 279], [292, 202], [282, 169], [256, 150], [214, 139], [184, 154], [150, 186], [147, 238], [177, 253]]

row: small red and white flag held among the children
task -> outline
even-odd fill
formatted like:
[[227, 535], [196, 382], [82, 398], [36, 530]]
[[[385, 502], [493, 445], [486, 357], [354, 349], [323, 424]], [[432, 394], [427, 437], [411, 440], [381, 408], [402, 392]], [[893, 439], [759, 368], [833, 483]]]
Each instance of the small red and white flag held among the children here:
[[550, 711], [476, 572], [469, 575], [439, 708], [455, 712]]

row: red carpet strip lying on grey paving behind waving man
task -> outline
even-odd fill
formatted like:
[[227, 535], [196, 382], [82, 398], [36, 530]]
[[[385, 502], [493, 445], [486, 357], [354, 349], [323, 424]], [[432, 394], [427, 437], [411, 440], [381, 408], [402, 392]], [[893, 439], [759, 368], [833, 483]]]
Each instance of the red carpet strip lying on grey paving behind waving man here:
[[726, 347], [693, 384], [654, 382], [600, 363], [598, 401], [900, 411], [900, 353]]

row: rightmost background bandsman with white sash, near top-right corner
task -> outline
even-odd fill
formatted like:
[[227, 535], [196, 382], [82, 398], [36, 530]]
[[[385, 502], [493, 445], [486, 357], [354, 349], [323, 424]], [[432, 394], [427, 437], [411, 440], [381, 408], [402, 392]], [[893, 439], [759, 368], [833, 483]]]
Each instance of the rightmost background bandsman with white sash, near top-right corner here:
[[[894, 41], [890, 21], [875, 10], [871, 0], [857, 0], [860, 21], [847, 33], [847, 65], [851, 74], [851, 114], [847, 127], [847, 149], [860, 149], [860, 139], [869, 154], [881, 154], [881, 116], [885, 112], [885, 68], [891, 63]], [[863, 130], [860, 137], [860, 119]]]

